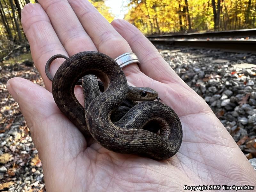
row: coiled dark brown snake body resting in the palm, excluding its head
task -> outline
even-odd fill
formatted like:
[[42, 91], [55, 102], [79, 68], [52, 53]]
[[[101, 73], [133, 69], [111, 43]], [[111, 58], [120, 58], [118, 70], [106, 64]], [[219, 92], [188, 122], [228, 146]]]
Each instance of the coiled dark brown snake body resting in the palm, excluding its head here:
[[[143, 102], [137, 102], [117, 121], [111, 120], [131, 89], [124, 71], [115, 60], [95, 51], [76, 53], [69, 58], [54, 55], [45, 66], [46, 72], [49, 73], [50, 63], [59, 57], [66, 60], [52, 79], [52, 95], [60, 111], [85, 137], [92, 137], [110, 151], [138, 154], [156, 160], [168, 159], [178, 152], [182, 142], [180, 119], [168, 105], [147, 97], [149, 100], [145, 101], [141, 93], [146, 96], [144, 91], [147, 88], [133, 93], [135, 96], [132, 99], [142, 97]], [[74, 93], [81, 78], [84, 107]], [[101, 94], [97, 78], [104, 87]], [[152, 127], [158, 132], [150, 131]]]

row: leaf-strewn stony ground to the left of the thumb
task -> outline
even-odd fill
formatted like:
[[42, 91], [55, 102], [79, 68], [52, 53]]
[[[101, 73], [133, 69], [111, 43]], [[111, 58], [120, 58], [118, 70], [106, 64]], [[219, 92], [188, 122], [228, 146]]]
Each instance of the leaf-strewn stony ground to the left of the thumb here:
[[43, 169], [30, 131], [18, 103], [5, 86], [12, 77], [44, 86], [31, 61], [27, 53], [0, 66], [0, 191], [44, 191]]

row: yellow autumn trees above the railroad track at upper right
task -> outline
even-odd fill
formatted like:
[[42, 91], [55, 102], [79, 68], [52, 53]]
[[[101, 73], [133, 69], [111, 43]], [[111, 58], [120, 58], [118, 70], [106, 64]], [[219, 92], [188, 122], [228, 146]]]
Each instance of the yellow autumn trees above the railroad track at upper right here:
[[129, 0], [125, 19], [144, 34], [255, 27], [256, 0]]

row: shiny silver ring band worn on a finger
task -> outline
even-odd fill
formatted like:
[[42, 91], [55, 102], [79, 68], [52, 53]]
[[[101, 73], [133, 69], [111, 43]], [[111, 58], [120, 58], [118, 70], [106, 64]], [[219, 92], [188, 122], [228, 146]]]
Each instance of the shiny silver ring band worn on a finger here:
[[117, 57], [115, 61], [121, 68], [124, 68], [125, 66], [130, 65], [132, 63], [137, 63], [138, 66], [140, 67], [140, 61], [138, 57], [135, 55], [135, 53], [124, 53], [123, 55]]

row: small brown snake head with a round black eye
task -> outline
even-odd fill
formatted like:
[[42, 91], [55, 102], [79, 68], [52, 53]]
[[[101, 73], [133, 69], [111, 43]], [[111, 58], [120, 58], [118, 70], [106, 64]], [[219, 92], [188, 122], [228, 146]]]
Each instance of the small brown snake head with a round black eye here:
[[133, 101], [156, 100], [158, 98], [158, 92], [149, 87], [132, 87], [128, 89], [126, 98]]

